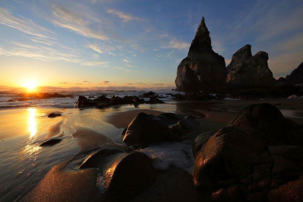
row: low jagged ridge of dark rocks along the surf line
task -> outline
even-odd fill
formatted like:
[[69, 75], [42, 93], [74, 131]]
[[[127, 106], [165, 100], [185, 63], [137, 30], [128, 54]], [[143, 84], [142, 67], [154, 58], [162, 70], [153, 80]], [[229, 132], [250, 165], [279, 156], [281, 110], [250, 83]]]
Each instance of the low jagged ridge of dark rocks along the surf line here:
[[119, 104], [161, 104], [165, 103], [164, 101], [159, 100], [155, 96], [151, 96], [148, 101], [145, 102], [143, 98], [139, 98], [138, 96], [124, 96], [123, 98], [112, 96], [111, 98], [107, 98], [105, 95], [99, 96], [93, 100], [88, 99], [84, 96], [79, 96], [78, 101], [75, 103], [75, 108], [104, 108], [111, 107]]

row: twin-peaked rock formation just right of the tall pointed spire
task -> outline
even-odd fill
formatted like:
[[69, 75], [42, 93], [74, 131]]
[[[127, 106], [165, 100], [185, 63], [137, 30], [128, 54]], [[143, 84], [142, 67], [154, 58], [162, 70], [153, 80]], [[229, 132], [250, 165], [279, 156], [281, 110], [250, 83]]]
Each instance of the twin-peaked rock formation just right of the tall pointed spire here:
[[251, 55], [251, 45], [245, 45], [231, 58], [226, 82], [238, 88], [273, 86], [275, 78], [268, 68], [268, 54], [259, 51]]

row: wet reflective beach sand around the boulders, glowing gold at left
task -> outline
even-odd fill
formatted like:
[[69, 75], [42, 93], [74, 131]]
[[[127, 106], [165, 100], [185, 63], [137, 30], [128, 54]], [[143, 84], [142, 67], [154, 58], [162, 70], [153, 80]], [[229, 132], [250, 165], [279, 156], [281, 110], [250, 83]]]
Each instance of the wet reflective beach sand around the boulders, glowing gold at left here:
[[[124, 105], [102, 110], [2, 110], [0, 139], [5, 141], [0, 141], [0, 170], [4, 171], [0, 173], [0, 200], [22, 199], [28, 194], [26, 200], [70, 201], [77, 198], [102, 201], [96, 187], [95, 171], [79, 171], [72, 164], [66, 167], [66, 162], [77, 154], [85, 158], [90, 150], [104, 144], [125, 147], [120, 132], [138, 113], [143, 111], [157, 115], [174, 112], [199, 116], [197, 121], [201, 125], [184, 141], [191, 145], [197, 135], [226, 126], [241, 108], [264, 102], [281, 103], [275, 106], [286, 118], [303, 124], [303, 104], [299, 100], [178, 102], [141, 104], [138, 107]], [[51, 112], [61, 112], [62, 116], [47, 118]], [[43, 141], [54, 137], [62, 141], [51, 147], [39, 147]], [[134, 197], [133, 201], [155, 201], [160, 197], [165, 201], [178, 201], [178, 198], [179, 201], [185, 198], [196, 201], [197, 194], [191, 184], [191, 175], [180, 168], [172, 168], [157, 171], [157, 176], [156, 182]]]

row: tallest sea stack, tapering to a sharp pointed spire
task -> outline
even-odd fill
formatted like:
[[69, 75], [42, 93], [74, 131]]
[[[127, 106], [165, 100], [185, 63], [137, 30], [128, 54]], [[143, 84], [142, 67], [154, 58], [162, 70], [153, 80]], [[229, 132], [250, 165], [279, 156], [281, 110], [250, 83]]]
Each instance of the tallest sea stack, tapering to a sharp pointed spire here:
[[187, 57], [178, 66], [175, 84], [184, 92], [217, 90], [225, 84], [226, 74], [224, 58], [212, 50], [203, 17]]

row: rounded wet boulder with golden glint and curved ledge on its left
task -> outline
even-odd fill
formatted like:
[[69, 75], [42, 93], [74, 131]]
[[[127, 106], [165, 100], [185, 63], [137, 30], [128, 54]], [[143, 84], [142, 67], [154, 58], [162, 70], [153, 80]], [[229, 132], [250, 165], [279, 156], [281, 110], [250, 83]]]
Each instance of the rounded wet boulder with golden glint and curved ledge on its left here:
[[80, 169], [98, 168], [102, 174], [105, 196], [111, 200], [127, 200], [148, 188], [156, 173], [150, 158], [141, 152], [122, 149], [100, 149], [89, 155]]

